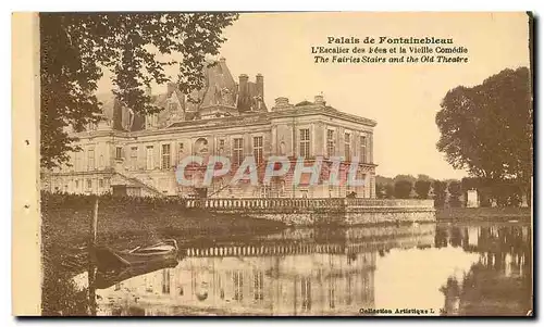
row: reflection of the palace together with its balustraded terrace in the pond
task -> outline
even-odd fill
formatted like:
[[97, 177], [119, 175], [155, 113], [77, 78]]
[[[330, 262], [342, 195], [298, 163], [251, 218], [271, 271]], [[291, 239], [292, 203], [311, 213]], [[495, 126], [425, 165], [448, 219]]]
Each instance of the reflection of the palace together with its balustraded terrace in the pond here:
[[358, 315], [361, 307], [374, 307], [379, 253], [429, 246], [433, 240], [434, 225], [424, 225], [333, 234], [290, 229], [244, 244], [187, 248], [175, 268], [98, 290], [100, 312]]

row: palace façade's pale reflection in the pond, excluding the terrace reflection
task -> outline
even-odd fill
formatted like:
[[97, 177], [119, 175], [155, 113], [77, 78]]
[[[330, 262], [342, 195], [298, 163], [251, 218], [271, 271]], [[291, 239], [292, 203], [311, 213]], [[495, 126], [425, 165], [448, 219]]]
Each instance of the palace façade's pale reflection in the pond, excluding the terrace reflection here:
[[176, 314], [176, 306], [233, 314], [354, 314], [373, 307], [375, 256], [189, 256], [175, 268], [124, 280], [101, 297], [144, 307], [148, 315]]

